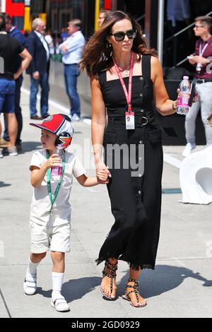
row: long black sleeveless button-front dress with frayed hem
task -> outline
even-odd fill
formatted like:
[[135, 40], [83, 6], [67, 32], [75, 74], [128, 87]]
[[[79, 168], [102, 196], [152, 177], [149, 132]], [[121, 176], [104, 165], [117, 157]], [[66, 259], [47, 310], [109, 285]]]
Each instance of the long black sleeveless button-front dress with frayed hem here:
[[[160, 233], [163, 148], [153, 112], [151, 56], [142, 57], [142, 76], [133, 76], [134, 130], [126, 130], [126, 97], [119, 79], [107, 81], [106, 72], [101, 72], [98, 78], [108, 115], [103, 146], [105, 165], [110, 163], [112, 174], [107, 190], [114, 225], [100, 249], [97, 263], [115, 258], [130, 263], [135, 270], [154, 269]], [[124, 83], [128, 88], [128, 77]], [[116, 160], [117, 147], [122, 148], [120, 162], [119, 158]], [[137, 170], [131, 165], [134, 164], [131, 151], [140, 165]]]

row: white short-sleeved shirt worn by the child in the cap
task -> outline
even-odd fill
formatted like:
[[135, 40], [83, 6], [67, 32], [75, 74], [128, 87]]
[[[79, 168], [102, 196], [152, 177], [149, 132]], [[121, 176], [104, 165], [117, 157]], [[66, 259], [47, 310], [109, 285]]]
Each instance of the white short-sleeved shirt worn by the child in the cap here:
[[[61, 225], [61, 223], [69, 223], [71, 220], [71, 204], [69, 203], [69, 196], [71, 194], [71, 188], [74, 177], [80, 177], [85, 174], [86, 170], [81, 165], [81, 162], [75, 155], [69, 152], [65, 152], [66, 166], [64, 175], [62, 178], [59, 193], [52, 208], [52, 214], [54, 215], [54, 225]], [[40, 150], [33, 154], [30, 162], [30, 166], [41, 167], [47, 161], [47, 151]], [[58, 180], [51, 176], [51, 189], [54, 197], [54, 192], [57, 188]], [[49, 221], [49, 210], [51, 208], [51, 202], [48, 193], [47, 186], [47, 174], [42, 181], [41, 186], [34, 188], [33, 200], [30, 210], [30, 221], [37, 223], [38, 225], [47, 225]]]

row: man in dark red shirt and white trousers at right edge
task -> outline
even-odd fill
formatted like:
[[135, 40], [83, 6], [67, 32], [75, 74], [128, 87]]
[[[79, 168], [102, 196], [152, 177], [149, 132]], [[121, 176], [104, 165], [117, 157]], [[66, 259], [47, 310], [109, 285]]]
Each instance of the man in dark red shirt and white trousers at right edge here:
[[195, 19], [194, 33], [200, 37], [196, 42], [195, 55], [189, 57], [189, 63], [196, 67], [196, 90], [198, 101], [189, 109], [185, 120], [187, 146], [182, 155], [187, 157], [196, 148], [195, 124], [201, 107], [201, 119], [206, 133], [206, 145], [212, 144], [212, 128], [207, 118], [212, 112], [212, 18], [199, 16]]

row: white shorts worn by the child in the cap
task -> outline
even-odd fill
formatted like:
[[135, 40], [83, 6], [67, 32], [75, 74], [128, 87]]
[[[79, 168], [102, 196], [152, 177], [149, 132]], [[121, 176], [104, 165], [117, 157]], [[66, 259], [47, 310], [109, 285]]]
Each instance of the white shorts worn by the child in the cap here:
[[33, 254], [41, 254], [49, 249], [51, 251], [69, 252], [71, 225], [65, 223], [52, 227], [37, 225], [30, 222], [31, 245]]

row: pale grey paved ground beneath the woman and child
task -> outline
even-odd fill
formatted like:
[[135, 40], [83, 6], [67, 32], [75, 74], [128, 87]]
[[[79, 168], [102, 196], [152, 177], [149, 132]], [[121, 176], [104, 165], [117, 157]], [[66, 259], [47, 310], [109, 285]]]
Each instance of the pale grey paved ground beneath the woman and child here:
[[[105, 186], [84, 189], [76, 181], [71, 194], [73, 205], [71, 253], [66, 256], [63, 292], [71, 312], [58, 313], [50, 307], [51, 268], [47, 258], [38, 269], [37, 294], [23, 293], [30, 237], [28, 220], [32, 187], [28, 166], [40, 148], [40, 131], [28, 126], [28, 95], [22, 95], [24, 117], [23, 153], [0, 160], [0, 317], [211, 317], [212, 234], [211, 206], [179, 203], [181, 194], [163, 194], [162, 223], [155, 271], [144, 271], [141, 294], [148, 306], [134, 309], [121, 297], [102, 300], [99, 290], [102, 265], [95, 259], [113, 218]], [[51, 113], [59, 109], [50, 109]], [[2, 119], [1, 119], [2, 122]], [[75, 125], [76, 153], [89, 165], [90, 126]], [[86, 139], [85, 153], [80, 150]], [[165, 147], [165, 153], [181, 160], [183, 147]], [[88, 170], [88, 174], [94, 174]], [[179, 170], [164, 164], [163, 188], [179, 188]], [[128, 278], [127, 266], [119, 262], [119, 295]]]

